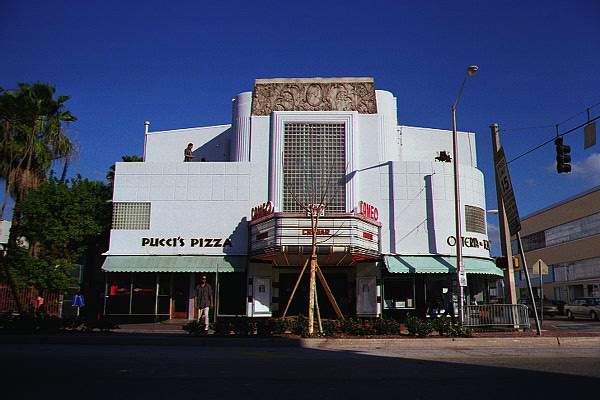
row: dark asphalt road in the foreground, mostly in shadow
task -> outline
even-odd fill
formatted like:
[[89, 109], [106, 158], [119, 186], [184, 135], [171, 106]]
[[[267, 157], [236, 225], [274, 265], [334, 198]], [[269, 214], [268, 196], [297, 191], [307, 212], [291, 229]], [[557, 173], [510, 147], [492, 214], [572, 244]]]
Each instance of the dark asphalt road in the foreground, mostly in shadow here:
[[0, 344], [0, 354], [2, 393], [36, 400], [576, 398], [600, 384], [600, 348]]

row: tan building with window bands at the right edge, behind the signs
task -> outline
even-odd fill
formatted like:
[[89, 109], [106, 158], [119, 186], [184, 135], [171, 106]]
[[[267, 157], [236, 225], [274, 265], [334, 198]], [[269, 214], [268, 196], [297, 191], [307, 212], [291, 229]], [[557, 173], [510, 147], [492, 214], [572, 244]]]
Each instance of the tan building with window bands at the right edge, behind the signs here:
[[[564, 302], [600, 297], [600, 186], [526, 216], [521, 227], [534, 296]], [[516, 242], [512, 248], [518, 254]], [[520, 258], [517, 296], [529, 297]], [[548, 266], [541, 275], [539, 260]]]

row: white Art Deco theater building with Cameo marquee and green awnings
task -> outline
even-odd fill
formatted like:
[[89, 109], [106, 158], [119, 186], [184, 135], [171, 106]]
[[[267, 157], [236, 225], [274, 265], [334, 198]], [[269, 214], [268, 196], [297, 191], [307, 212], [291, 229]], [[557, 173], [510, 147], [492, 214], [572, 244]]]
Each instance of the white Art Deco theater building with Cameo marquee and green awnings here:
[[226, 125], [146, 122], [144, 161], [116, 163], [105, 315], [193, 319], [201, 275], [215, 318], [307, 315], [313, 246], [325, 318], [330, 296], [344, 315], [424, 315], [457, 284], [457, 242], [465, 297], [487, 300], [502, 271], [473, 133], [458, 133], [457, 241], [452, 132], [399, 125], [373, 79], [257, 79], [232, 104]]

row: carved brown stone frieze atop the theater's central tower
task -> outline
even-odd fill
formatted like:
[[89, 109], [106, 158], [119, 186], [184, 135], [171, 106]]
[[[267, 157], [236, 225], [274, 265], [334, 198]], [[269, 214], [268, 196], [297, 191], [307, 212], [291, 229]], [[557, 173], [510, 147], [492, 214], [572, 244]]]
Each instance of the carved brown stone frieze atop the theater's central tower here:
[[372, 78], [257, 79], [252, 115], [273, 111], [358, 111], [376, 114]]

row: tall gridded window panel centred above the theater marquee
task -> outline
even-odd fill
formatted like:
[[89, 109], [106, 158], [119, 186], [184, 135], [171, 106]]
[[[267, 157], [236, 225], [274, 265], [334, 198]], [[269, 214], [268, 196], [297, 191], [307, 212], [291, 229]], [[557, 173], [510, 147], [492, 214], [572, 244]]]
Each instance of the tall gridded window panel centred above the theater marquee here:
[[[283, 211], [325, 205], [346, 208], [346, 129], [343, 123], [286, 123], [283, 142]], [[298, 204], [298, 201], [301, 203]]]

